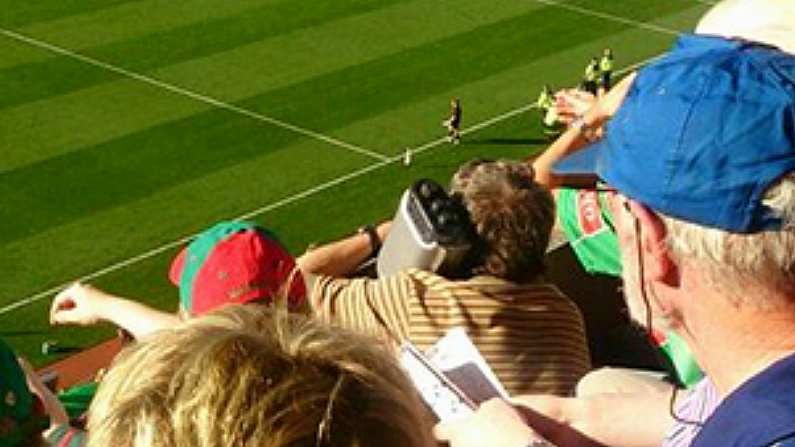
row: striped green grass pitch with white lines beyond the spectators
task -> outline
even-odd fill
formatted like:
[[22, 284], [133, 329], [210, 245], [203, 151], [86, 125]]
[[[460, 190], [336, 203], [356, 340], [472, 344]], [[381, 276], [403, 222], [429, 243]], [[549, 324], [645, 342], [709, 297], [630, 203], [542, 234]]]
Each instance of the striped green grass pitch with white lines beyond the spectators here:
[[[412, 180], [544, 141], [523, 108], [612, 47], [646, 61], [684, 0], [0, 1], [0, 337], [48, 325], [77, 278], [174, 309], [181, 240], [245, 216], [294, 253], [389, 217]], [[439, 123], [460, 97], [463, 144]], [[653, 119], [653, 117], [651, 117]], [[410, 168], [395, 158], [422, 148]]]

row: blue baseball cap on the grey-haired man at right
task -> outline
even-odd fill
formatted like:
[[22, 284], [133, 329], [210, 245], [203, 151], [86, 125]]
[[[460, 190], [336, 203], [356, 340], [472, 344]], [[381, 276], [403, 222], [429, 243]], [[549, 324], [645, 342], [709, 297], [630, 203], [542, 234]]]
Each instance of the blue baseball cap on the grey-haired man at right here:
[[795, 171], [795, 57], [684, 35], [643, 68], [606, 136], [561, 160], [668, 216], [735, 233], [773, 230], [765, 191]]

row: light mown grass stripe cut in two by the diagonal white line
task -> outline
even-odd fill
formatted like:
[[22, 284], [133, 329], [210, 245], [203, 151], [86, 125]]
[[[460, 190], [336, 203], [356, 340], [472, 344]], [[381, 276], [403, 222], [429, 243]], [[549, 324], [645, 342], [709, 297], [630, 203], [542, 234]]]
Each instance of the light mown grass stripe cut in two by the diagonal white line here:
[[[458, 6], [459, 14], [451, 16], [444, 3], [403, 3], [164, 67], [153, 76], [234, 102], [538, 7], [487, 7], [480, 0], [464, 0]], [[399, 40], [394, 38], [396, 34], [401, 35]], [[0, 158], [0, 171], [206, 109], [162, 96], [158, 98], [153, 89], [119, 79], [5, 109], [0, 114], [0, 138], [8, 148], [6, 156]], [[139, 113], [140, 108], [146, 108], [147, 113]], [[46, 121], [41, 119], [44, 116]]]

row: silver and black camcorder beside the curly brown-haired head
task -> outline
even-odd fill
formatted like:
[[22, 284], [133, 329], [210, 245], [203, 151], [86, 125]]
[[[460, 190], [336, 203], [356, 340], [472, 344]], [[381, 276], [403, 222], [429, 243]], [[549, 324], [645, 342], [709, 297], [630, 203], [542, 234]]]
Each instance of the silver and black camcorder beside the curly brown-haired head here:
[[477, 237], [464, 204], [433, 180], [421, 179], [401, 196], [376, 260], [379, 277], [406, 268], [448, 278], [469, 274]]

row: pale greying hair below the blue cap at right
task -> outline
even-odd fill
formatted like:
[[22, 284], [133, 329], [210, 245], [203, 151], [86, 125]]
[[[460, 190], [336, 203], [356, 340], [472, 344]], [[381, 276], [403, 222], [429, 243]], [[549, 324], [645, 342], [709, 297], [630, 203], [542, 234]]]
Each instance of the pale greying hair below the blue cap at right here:
[[781, 229], [739, 234], [662, 216], [674, 258], [699, 262], [710, 286], [737, 306], [771, 309], [795, 296], [795, 173], [774, 184], [764, 204], [781, 217]]

